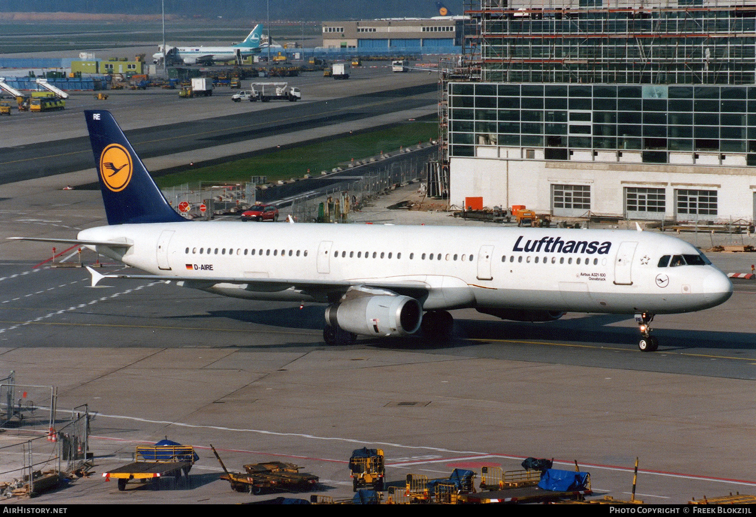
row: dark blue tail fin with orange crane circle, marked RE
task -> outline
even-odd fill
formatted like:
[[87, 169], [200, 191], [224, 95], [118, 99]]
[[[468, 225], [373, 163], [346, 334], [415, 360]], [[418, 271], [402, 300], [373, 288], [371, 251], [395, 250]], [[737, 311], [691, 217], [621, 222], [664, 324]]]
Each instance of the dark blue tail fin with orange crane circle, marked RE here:
[[85, 110], [108, 224], [186, 221], [166, 201], [110, 111]]

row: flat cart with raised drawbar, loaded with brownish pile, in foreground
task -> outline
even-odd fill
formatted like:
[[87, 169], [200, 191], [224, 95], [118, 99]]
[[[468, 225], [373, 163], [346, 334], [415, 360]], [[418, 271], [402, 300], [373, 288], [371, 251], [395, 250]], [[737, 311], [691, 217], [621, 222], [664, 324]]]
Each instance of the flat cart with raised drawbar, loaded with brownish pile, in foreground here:
[[252, 463], [244, 466], [246, 473], [228, 472], [218, 451], [212, 444], [210, 447], [223, 469], [221, 479], [231, 483], [231, 488], [237, 492], [310, 491], [320, 481], [316, 475], [299, 472], [299, 466], [283, 462]]

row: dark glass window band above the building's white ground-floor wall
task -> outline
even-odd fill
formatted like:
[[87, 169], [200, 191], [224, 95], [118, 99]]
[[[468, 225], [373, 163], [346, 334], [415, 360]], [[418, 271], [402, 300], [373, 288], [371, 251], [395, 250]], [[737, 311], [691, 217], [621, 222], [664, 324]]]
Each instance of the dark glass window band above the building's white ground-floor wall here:
[[748, 155], [756, 164], [756, 87], [448, 83], [449, 155], [476, 145], [640, 151], [649, 164], [683, 152]]

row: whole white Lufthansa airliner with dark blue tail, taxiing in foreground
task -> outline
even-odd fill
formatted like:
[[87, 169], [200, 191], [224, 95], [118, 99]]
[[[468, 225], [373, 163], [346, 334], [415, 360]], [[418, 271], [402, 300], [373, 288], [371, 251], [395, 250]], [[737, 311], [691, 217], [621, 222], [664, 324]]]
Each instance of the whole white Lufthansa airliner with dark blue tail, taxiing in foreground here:
[[190, 222], [169, 205], [108, 111], [85, 111], [108, 226], [76, 239], [147, 275], [250, 300], [329, 304], [324, 339], [451, 333], [451, 309], [517, 321], [655, 314], [722, 304], [733, 285], [691, 244], [627, 230]]

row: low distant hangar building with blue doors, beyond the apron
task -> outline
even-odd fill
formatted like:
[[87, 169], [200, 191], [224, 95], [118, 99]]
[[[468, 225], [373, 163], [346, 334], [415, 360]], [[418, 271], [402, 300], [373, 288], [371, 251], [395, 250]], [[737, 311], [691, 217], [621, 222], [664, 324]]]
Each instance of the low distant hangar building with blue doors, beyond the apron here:
[[323, 46], [368, 52], [454, 52], [462, 48], [462, 26], [460, 17], [323, 22]]

